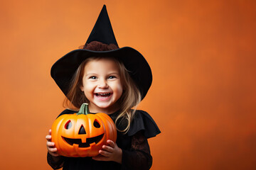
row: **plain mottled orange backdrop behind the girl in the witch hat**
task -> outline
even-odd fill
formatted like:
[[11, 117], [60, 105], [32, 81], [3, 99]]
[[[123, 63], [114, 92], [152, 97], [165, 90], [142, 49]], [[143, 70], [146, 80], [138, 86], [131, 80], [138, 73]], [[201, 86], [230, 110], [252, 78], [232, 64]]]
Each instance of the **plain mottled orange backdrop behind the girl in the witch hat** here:
[[256, 169], [256, 3], [249, 0], [0, 2], [0, 169], [50, 169], [46, 135], [63, 110], [50, 67], [85, 43], [107, 5], [120, 47], [154, 81], [151, 169]]

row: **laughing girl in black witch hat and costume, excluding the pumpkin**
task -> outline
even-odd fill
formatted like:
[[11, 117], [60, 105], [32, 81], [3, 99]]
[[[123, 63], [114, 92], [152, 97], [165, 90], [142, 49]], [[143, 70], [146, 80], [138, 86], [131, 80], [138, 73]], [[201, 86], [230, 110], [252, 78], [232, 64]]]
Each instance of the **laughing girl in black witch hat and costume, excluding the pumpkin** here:
[[53, 169], [150, 169], [147, 138], [160, 130], [148, 113], [132, 108], [151, 86], [151, 69], [137, 50], [118, 47], [106, 6], [83, 49], [55, 62], [51, 76], [69, 108], [60, 115], [76, 113], [82, 103], [89, 103], [91, 113], [107, 113], [118, 130], [117, 142], [108, 140], [96, 157], [75, 158], [58, 154], [49, 131], [47, 159]]

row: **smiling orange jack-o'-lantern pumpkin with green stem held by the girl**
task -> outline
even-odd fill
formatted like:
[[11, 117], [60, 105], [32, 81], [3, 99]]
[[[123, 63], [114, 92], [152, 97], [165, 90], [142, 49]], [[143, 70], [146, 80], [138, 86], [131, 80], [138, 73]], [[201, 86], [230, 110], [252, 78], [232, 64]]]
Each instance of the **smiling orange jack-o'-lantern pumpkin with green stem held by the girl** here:
[[117, 129], [105, 113], [89, 114], [87, 103], [74, 114], [60, 115], [52, 126], [52, 142], [65, 157], [94, 157], [107, 140], [116, 142]]

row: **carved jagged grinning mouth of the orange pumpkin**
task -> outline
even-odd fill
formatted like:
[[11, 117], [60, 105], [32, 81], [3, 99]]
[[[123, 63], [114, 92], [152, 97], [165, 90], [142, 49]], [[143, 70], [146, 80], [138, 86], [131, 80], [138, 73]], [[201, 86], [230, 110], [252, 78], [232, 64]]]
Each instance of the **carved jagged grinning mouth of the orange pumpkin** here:
[[68, 137], [63, 137], [63, 140], [65, 140], [65, 142], [67, 142], [69, 145], [77, 144], [77, 145], [79, 145], [79, 147], [90, 147], [90, 144], [92, 144], [93, 142], [95, 142], [95, 144], [100, 142], [103, 135], [104, 135], [104, 133], [102, 135], [97, 136], [97, 137], [87, 138], [85, 143], [82, 143], [81, 139], [71, 139], [71, 138], [68, 138]]

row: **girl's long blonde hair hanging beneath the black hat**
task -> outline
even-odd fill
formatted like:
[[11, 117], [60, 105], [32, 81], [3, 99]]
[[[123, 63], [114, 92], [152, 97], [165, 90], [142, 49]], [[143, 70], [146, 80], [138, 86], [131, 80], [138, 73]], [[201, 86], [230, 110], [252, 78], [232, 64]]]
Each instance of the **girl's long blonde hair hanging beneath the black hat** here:
[[[89, 57], [85, 61], [83, 61], [73, 75], [73, 79], [70, 82], [70, 89], [63, 102], [63, 106], [65, 108], [78, 111], [82, 103], [89, 103], [88, 99], [85, 97], [85, 94], [80, 89], [80, 86], [82, 86], [82, 77], [84, 74], [85, 65], [87, 64], [87, 62], [90, 62], [92, 60], [100, 60], [102, 58], [113, 60], [114, 62], [116, 62], [117, 67], [119, 68], [120, 79], [124, 91], [122, 93], [122, 96], [117, 101], [119, 102], [120, 113], [119, 115], [117, 115], [114, 123], [117, 126], [117, 130], [126, 133], [130, 128], [132, 120], [134, 119], [136, 108], [139, 102], [142, 100], [142, 96], [132, 77], [130, 77], [129, 71], [124, 67], [124, 64], [122, 62], [117, 60], [117, 58]], [[124, 125], [124, 129], [119, 129], [119, 125], [124, 123], [125, 120], [127, 120], [127, 125]]]

